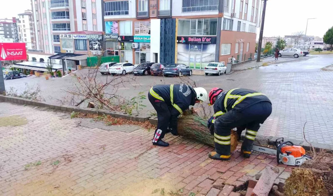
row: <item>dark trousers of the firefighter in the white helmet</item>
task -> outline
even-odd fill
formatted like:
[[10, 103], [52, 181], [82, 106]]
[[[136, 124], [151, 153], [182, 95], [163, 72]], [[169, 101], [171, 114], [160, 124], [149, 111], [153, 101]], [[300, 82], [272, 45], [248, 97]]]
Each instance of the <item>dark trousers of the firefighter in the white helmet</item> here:
[[164, 138], [164, 135], [167, 133], [168, 127], [173, 127], [173, 125], [169, 122], [177, 120], [177, 116], [171, 116], [169, 106], [166, 104], [166, 102], [154, 98], [150, 93], [148, 94], [148, 100], [153, 105], [154, 109], [157, 113], [157, 128], [154, 133], [153, 143], [158, 142]]

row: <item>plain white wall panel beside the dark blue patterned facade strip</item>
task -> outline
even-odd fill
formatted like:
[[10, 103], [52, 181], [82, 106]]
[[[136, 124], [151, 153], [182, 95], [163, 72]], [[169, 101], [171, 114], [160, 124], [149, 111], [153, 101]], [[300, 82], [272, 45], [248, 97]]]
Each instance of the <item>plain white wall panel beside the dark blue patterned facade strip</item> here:
[[[150, 25], [151, 27], [151, 36], [150, 36], [150, 61], [151, 62], [155, 62], [155, 58], [153, 53], [157, 53], [158, 54], [158, 61], [160, 61], [160, 37], [161, 37], [161, 32], [160, 32], [160, 26], [161, 26], [161, 19], [151, 19], [150, 20]], [[155, 62], [158, 63], [158, 62]]]

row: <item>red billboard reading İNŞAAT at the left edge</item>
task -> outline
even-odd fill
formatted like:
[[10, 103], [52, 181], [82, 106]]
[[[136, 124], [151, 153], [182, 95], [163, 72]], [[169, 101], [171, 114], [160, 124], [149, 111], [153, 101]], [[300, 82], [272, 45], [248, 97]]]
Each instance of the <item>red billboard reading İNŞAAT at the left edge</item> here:
[[0, 61], [27, 60], [25, 43], [0, 43]]

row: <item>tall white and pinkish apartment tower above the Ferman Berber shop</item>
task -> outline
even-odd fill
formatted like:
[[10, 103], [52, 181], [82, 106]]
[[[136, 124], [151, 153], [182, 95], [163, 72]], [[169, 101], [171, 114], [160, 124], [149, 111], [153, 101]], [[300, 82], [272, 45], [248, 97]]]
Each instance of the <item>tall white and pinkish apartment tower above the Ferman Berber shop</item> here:
[[34, 52], [60, 53], [61, 34], [103, 29], [102, 0], [31, 0], [31, 4], [36, 37]]

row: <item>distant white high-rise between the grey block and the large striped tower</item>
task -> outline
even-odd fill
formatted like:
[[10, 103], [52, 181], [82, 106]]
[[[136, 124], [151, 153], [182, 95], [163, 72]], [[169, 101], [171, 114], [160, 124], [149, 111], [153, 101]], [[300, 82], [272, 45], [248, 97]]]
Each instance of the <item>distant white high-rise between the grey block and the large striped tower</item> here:
[[36, 38], [32, 10], [26, 10], [17, 17], [18, 38], [27, 49], [36, 49]]

